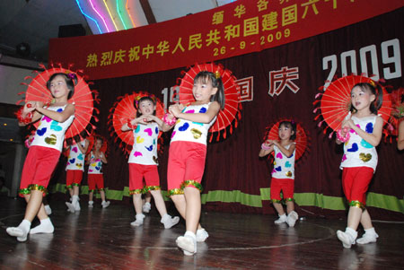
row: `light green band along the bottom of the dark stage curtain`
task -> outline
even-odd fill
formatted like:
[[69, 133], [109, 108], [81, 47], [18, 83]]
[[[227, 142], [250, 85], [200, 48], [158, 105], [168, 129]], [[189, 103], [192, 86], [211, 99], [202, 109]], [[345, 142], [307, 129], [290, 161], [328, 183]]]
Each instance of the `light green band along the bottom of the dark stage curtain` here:
[[[62, 192], [66, 193], [66, 185], [57, 183], [48, 190], [50, 193]], [[111, 200], [122, 200], [124, 196], [129, 196], [129, 187], [124, 187], [123, 190], [113, 190], [106, 188], [106, 196]], [[270, 188], [259, 188], [259, 195], [250, 195], [243, 193], [240, 190], [212, 190], [207, 194], [202, 194], [202, 204], [210, 202], [220, 203], [239, 203], [251, 207], [262, 207], [263, 201], [269, 200]], [[80, 194], [88, 194], [88, 186], [80, 187]], [[95, 197], [100, 198], [97, 192]], [[167, 191], [162, 190], [164, 200], [169, 200]], [[346, 210], [347, 204], [344, 197], [339, 196], [325, 196], [317, 193], [295, 193], [294, 201], [300, 206], [316, 206], [329, 210]], [[383, 195], [378, 193], [369, 192], [366, 196], [366, 205], [377, 208], [386, 209], [393, 212], [404, 213], [404, 198], [396, 196]]]

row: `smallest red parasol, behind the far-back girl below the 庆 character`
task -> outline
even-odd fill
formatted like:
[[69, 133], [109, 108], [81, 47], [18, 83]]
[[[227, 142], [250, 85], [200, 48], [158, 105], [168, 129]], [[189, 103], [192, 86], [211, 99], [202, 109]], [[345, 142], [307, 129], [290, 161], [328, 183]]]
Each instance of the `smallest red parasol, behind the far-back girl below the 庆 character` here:
[[[279, 140], [279, 124], [283, 121], [292, 121], [292, 119], [282, 119], [277, 121], [275, 125], [272, 127], [267, 128], [268, 132], [265, 135], [264, 140]], [[308, 149], [309, 145], [309, 137], [307, 136], [306, 132], [304, 131], [303, 126], [300, 123], [296, 123], [296, 138], [294, 139], [294, 143], [296, 143], [296, 156], [294, 160], [297, 161], [303, 156], [303, 153]], [[274, 152], [271, 152], [272, 156]]]

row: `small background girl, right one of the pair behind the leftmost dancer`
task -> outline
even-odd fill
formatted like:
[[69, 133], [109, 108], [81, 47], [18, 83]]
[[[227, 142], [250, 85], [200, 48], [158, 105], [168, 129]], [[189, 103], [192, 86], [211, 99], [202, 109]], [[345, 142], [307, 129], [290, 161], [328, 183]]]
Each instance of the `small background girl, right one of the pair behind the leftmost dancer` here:
[[88, 195], [88, 207], [92, 207], [94, 201], [92, 201], [92, 197], [94, 196], [94, 189], [97, 187], [100, 190], [100, 196], [102, 200], [102, 208], [107, 208], [110, 205], [110, 202], [105, 200], [105, 191], [104, 191], [104, 178], [102, 175], [102, 163], [107, 164], [107, 158], [105, 157], [105, 153], [101, 152], [101, 147], [103, 144], [103, 140], [101, 137], [96, 138], [94, 147], [92, 148], [92, 152], [88, 154], [88, 190], [90, 191]]

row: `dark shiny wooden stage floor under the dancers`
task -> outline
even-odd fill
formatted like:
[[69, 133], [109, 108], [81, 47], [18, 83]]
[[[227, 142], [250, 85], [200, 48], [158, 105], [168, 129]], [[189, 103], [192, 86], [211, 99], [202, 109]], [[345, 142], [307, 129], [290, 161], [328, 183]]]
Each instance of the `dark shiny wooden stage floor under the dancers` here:
[[204, 212], [201, 221], [210, 236], [198, 243], [197, 255], [187, 257], [175, 245], [184, 222], [164, 230], [153, 207], [144, 226], [132, 228], [130, 205], [112, 202], [101, 209], [96, 203], [89, 209], [83, 201], [80, 213], [68, 213], [64, 202], [52, 201], [55, 232], [20, 243], [5, 228], [22, 221], [25, 203], [1, 197], [0, 268], [404, 269], [402, 222], [375, 222], [377, 243], [346, 249], [336, 237], [345, 220], [307, 218], [288, 228], [275, 225], [274, 215]]

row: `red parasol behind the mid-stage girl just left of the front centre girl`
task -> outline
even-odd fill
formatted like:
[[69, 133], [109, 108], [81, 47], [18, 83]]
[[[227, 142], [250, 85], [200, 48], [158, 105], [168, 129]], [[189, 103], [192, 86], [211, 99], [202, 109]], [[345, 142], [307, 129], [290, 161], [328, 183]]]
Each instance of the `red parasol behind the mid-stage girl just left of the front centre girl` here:
[[[121, 127], [127, 123], [128, 119], [136, 118], [137, 110], [134, 107], [134, 101], [145, 96], [153, 97], [156, 100], [155, 116], [157, 118], [162, 118], [164, 115], [164, 105], [162, 104], [162, 101], [148, 92], [134, 92], [130, 95], [126, 94], [125, 96], [119, 97], [110, 109], [109, 123], [111, 135], [115, 133], [115, 135], [118, 136], [116, 140], [119, 138], [121, 141], [119, 147], [124, 149], [127, 153], [131, 151], [129, 145], [132, 146], [134, 144], [133, 134], [129, 131], [122, 132]], [[159, 136], [161, 134], [162, 132], [160, 132]]]

